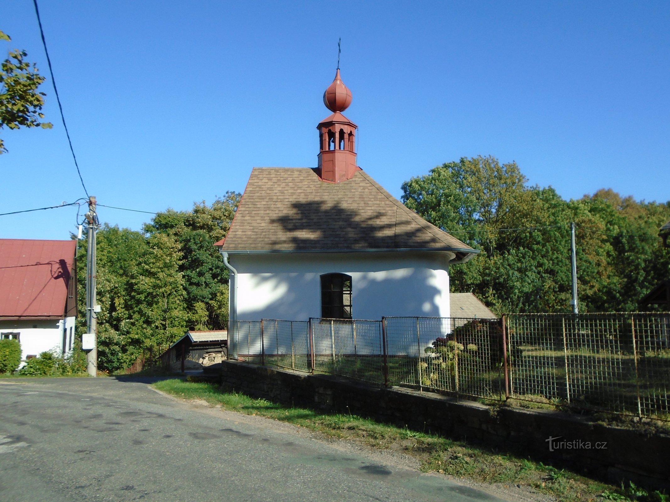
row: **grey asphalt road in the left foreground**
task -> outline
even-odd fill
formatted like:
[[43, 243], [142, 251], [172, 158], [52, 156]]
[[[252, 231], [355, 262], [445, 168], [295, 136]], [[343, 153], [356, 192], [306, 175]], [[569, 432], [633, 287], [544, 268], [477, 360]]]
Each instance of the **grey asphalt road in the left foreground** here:
[[0, 502], [493, 501], [113, 378], [0, 380]]

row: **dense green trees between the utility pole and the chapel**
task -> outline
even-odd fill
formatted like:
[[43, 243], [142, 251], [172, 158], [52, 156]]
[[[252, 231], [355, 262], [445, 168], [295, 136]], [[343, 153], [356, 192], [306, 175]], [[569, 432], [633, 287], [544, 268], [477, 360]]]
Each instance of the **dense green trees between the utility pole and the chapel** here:
[[[158, 357], [187, 329], [226, 326], [228, 271], [214, 242], [226, 236], [240, 197], [228, 192], [192, 211], [161, 212], [143, 232], [108, 224], [98, 230], [100, 369], [129, 367], [142, 354]], [[79, 256], [86, 256], [85, 240]], [[80, 319], [86, 319], [86, 267], [78, 272]]]

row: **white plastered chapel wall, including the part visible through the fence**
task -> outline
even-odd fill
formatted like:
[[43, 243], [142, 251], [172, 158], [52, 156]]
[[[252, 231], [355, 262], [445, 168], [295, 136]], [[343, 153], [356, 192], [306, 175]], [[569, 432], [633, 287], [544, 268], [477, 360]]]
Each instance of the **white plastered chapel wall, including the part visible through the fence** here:
[[[446, 257], [438, 254], [250, 254], [231, 256], [230, 263], [239, 272], [239, 320], [307, 321], [310, 317], [320, 317], [320, 276], [330, 272], [352, 277], [354, 319], [379, 321], [382, 317], [391, 316], [450, 315], [448, 262]], [[409, 355], [415, 353], [417, 346], [423, 352], [436, 337], [445, 336], [450, 331], [448, 320], [436, 320], [429, 324], [433, 329], [423, 327], [421, 337], [417, 339], [415, 319], [389, 320], [389, 353]], [[339, 349], [346, 352], [347, 347], [343, 347], [342, 343], [353, 340], [352, 333], [349, 333], [352, 329], [352, 325], [347, 323], [333, 328], [318, 325], [314, 333], [316, 351], [330, 351], [334, 336], [338, 338]], [[381, 343], [381, 333], [375, 331], [381, 329], [378, 323], [369, 326], [358, 323], [356, 329], [358, 353], [366, 350], [381, 353], [381, 346], [375, 345]], [[319, 334], [319, 330], [324, 333]], [[334, 332], [330, 333], [331, 330]], [[243, 352], [260, 353], [259, 334], [254, 335], [251, 331], [243, 337]], [[272, 331], [271, 327], [269, 331]], [[276, 347], [277, 343], [278, 339], [268, 337], [265, 353], [287, 349]]]

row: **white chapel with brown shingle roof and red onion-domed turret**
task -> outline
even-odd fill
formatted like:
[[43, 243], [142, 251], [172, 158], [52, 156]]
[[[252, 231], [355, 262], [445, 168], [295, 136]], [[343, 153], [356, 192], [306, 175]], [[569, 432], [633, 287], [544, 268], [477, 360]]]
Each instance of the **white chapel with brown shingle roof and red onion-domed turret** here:
[[324, 92], [332, 114], [317, 126], [316, 168], [251, 171], [230, 230], [216, 243], [230, 271], [232, 326], [450, 317], [449, 266], [478, 250], [423, 220], [358, 167], [358, 129], [342, 114], [351, 100], [338, 69]]

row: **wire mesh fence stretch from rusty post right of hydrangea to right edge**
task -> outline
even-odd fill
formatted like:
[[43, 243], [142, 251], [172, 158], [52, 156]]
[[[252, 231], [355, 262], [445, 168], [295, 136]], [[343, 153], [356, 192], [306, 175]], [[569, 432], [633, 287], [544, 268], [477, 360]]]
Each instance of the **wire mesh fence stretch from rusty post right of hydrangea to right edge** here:
[[507, 316], [509, 394], [670, 419], [670, 314]]

